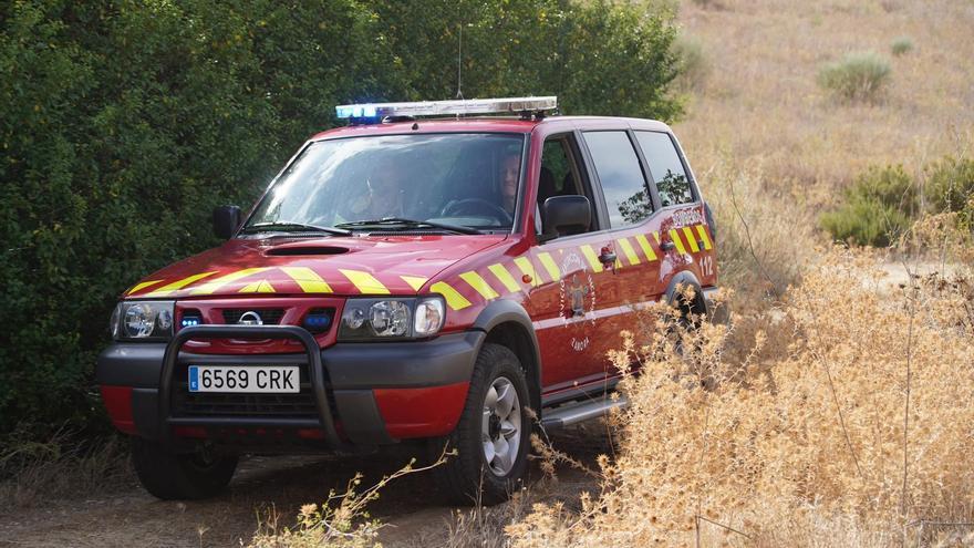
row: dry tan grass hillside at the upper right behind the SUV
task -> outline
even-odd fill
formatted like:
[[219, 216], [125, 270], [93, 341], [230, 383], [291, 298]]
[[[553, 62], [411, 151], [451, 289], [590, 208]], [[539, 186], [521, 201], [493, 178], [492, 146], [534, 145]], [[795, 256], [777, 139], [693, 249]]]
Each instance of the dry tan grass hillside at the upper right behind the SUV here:
[[[974, 143], [974, 4], [960, 0], [722, 0], [683, 2], [680, 21], [713, 68], [675, 125], [701, 174], [734, 158], [773, 197], [830, 206], [870, 165], [903, 163], [916, 180], [943, 155]], [[819, 68], [853, 51], [918, 45], [892, 60], [884, 99], [840, 104], [816, 83]], [[705, 190], [724, 185], [701, 177]]]

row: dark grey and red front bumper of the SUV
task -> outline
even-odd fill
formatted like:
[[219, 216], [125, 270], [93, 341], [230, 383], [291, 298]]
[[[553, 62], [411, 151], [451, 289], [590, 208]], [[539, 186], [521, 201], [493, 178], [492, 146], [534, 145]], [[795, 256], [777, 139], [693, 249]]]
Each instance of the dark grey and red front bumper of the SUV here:
[[[322, 350], [293, 325], [200, 325], [182, 330], [169, 343], [110, 345], [99, 356], [96, 379], [116, 426], [146, 438], [174, 441], [187, 430], [207, 437], [312, 432], [333, 448], [381, 445], [453, 430], [484, 337], [481, 331], [466, 331], [427, 341], [339, 343]], [[289, 338], [301, 341], [305, 352], [225, 355], [180, 350], [190, 339], [225, 338]], [[190, 363], [297, 364], [301, 394], [271, 401], [248, 395], [193, 400], [198, 394], [187, 395], [183, 382]]]

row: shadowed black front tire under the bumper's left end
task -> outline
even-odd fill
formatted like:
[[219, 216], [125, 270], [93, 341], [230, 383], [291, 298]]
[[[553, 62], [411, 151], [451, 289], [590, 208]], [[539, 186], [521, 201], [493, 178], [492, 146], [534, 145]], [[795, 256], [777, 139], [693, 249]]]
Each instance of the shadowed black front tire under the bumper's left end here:
[[132, 464], [152, 495], [163, 500], [197, 500], [217, 495], [230, 483], [237, 457], [175, 454], [158, 443], [133, 437]]

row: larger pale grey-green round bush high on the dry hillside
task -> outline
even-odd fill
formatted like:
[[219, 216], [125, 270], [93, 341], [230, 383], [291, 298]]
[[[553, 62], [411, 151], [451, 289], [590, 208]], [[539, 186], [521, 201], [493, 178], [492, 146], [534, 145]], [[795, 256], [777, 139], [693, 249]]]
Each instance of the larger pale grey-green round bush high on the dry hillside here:
[[873, 52], [849, 53], [819, 70], [818, 83], [847, 101], [874, 101], [890, 79], [890, 63]]

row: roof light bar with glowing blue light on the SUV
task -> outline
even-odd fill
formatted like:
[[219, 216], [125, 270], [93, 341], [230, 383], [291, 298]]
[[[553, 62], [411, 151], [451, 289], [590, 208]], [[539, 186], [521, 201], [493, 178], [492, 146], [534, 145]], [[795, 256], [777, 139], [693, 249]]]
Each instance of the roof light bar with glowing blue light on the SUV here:
[[472, 99], [421, 101], [416, 103], [365, 103], [335, 106], [339, 118], [384, 118], [386, 116], [453, 116], [467, 114], [518, 114], [553, 111], [558, 97]]

